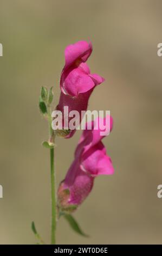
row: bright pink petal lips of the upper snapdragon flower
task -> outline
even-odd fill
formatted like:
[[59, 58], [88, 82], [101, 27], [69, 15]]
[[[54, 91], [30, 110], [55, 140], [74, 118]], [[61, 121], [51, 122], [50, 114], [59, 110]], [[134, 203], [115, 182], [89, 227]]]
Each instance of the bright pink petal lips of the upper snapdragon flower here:
[[104, 81], [101, 76], [90, 74], [85, 62], [91, 53], [92, 44], [86, 41], [79, 41], [66, 47], [66, 63], [60, 80], [60, 88], [64, 94], [77, 97]]

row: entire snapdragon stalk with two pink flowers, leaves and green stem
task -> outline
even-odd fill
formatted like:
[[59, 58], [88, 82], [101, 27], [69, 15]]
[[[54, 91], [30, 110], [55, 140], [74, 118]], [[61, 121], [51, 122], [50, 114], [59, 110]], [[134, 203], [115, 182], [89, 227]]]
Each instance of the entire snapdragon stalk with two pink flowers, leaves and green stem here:
[[[51, 103], [53, 102], [52, 88], [49, 90], [42, 87], [39, 107], [43, 117], [48, 120], [49, 124], [49, 140], [42, 143], [45, 148], [50, 150], [50, 178], [51, 178], [51, 245], [56, 243], [56, 221], [58, 217], [64, 218], [70, 224], [70, 227], [78, 234], [87, 236], [81, 230], [79, 224], [75, 221], [72, 213], [82, 204], [87, 198], [93, 188], [94, 180], [99, 175], [111, 175], [114, 173], [111, 158], [106, 153], [106, 148], [101, 142], [104, 135], [99, 123], [108, 131], [112, 130], [113, 119], [96, 118], [90, 123], [91, 130], [88, 129], [88, 124], [82, 132], [79, 143], [75, 150], [75, 158], [71, 164], [65, 179], [60, 183], [57, 190], [56, 202], [56, 184], [55, 184], [55, 135], [64, 138], [70, 138], [74, 135], [75, 129], [68, 129], [68, 124], [72, 121], [72, 116], [69, 112], [77, 111], [79, 113], [80, 121], [82, 119], [82, 111], [86, 111], [88, 107], [88, 100], [94, 88], [101, 84], [104, 80], [98, 74], [92, 74], [88, 65], [87, 59], [92, 53], [92, 44], [86, 41], [79, 41], [73, 45], [69, 45], [65, 50], [66, 63], [61, 72], [60, 89], [61, 95], [56, 111], [63, 114], [64, 107], [68, 107], [68, 117], [66, 114], [62, 115], [63, 127], [62, 129], [52, 128], [52, 122], [57, 123], [57, 119], [51, 116]], [[79, 123], [80, 123], [79, 121]], [[106, 129], [107, 131], [107, 129]], [[31, 228], [38, 240], [39, 244], [44, 243], [41, 236], [37, 233], [34, 222]]]

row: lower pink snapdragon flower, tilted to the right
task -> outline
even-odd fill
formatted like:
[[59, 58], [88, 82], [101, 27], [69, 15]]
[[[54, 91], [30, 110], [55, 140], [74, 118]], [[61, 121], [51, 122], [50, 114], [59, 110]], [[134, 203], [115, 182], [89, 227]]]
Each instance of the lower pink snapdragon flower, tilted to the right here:
[[[60, 184], [58, 202], [61, 210], [75, 210], [92, 190], [96, 176], [114, 173], [111, 158], [106, 154], [106, 148], [101, 142], [104, 136], [100, 135], [100, 128], [95, 130], [99, 120], [100, 118], [97, 118], [92, 122], [92, 130], [87, 130], [86, 126], [75, 150], [75, 159]], [[112, 117], [109, 126], [111, 131]]]

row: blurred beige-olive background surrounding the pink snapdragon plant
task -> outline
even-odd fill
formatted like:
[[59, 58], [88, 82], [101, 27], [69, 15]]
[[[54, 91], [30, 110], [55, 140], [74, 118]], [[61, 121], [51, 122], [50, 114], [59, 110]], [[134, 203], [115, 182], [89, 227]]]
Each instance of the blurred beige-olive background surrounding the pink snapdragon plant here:
[[[57, 243], [161, 243], [162, 42], [160, 0], [1, 0], [0, 243], [35, 243], [31, 221], [50, 239], [48, 125], [38, 111], [41, 86], [59, 100], [64, 48], [90, 39], [92, 72], [106, 78], [89, 109], [110, 109], [111, 136], [103, 143], [115, 174], [95, 180], [75, 213], [89, 239], [61, 220]], [[57, 184], [73, 161], [81, 132], [57, 139]]]

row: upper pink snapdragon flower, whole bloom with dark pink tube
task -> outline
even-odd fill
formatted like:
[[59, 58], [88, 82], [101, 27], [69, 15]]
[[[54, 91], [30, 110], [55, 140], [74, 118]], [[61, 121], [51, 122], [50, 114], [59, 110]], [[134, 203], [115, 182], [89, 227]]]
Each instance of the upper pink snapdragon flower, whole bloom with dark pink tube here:
[[[97, 74], [90, 74], [90, 69], [85, 63], [92, 53], [92, 44], [87, 41], [78, 41], [69, 45], [65, 50], [65, 65], [61, 73], [60, 101], [56, 109], [63, 113], [63, 107], [68, 106], [70, 111], [86, 111], [88, 100], [93, 89], [101, 84], [104, 79]], [[64, 118], [64, 117], [63, 117]], [[72, 118], [69, 118], [69, 121]], [[75, 130], [69, 130], [66, 138], [73, 136]]]

